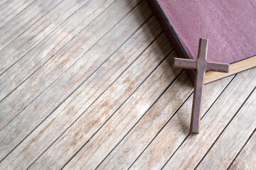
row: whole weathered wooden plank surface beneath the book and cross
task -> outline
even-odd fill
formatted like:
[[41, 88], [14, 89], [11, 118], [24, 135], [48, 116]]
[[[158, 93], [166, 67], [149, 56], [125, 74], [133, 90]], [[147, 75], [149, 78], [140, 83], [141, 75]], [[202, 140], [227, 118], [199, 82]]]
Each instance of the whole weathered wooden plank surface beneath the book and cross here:
[[256, 69], [193, 85], [145, 1], [0, 0], [0, 169], [256, 169]]

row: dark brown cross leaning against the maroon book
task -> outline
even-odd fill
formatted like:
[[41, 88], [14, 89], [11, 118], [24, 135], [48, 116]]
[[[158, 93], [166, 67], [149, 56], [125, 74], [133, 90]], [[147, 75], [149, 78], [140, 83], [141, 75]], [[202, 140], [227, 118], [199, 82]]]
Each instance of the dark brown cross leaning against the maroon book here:
[[191, 114], [191, 133], [199, 133], [201, 123], [201, 108], [203, 98], [203, 85], [206, 71], [228, 72], [229, 64], [207, 61], [208, 39], [200, 38], [198, 48], [198, 59], [174, 58], [174, 67], [184, 69], [196, 69], [194, 83], [193, 107]]

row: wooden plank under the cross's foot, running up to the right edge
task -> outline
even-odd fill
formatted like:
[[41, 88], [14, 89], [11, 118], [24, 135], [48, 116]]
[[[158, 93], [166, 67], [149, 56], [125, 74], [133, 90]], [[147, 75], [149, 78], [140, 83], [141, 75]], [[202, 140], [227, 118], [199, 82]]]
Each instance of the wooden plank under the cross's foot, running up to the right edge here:
[[[194, 169], [256, 86], [256, 69], [238, 74], [203, 118], [201, 133], [189, 135], [164, 169]], [[235, 98], [235, 100], [234, 100]], [[188, 154], [189, 153], [189, 154]]]

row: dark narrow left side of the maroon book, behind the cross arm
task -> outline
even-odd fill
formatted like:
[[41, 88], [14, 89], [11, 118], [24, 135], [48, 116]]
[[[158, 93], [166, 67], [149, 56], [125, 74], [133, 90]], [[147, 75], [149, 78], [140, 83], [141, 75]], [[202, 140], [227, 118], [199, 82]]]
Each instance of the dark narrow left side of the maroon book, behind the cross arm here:
[[[188, 58], [188, 55], [186, 54], [186, 51], [181, 45], [181, 42], [178, 40], [178, 36], [176, 35], [174, 28], [171, 26], [171, 23], [167, 16], [165, 15], [164, 11], [161, 9], [160, 4], [156, 0], [146, 0], [149, 4], [149, 7], [154, 12], [157, 20], [160, 23], [160, 26], [163, 28], [164, 33], [166, 34], [167, 38], [171, 42], [171, 45], [174, 47], [174, 50], [178, 57], [182, 58]], [[186, 69], [186, 72], [188, 73], [188, 76], [191, 78], [191, 80], [194, 82], [195, 78], [195, 71], [193, 69]]]

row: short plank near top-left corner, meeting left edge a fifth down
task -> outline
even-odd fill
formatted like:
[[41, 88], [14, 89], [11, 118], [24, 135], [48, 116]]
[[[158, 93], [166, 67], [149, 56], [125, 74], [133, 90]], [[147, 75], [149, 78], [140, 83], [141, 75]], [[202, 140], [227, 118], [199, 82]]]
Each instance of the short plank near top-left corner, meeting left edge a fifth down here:
[[62, 0], [38, 0], [22, 11], [13, 21], [0, 28], [0, 50], [12, 42], [24, 30], [36, 23], [46, 13], [51, 11]]

